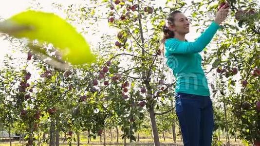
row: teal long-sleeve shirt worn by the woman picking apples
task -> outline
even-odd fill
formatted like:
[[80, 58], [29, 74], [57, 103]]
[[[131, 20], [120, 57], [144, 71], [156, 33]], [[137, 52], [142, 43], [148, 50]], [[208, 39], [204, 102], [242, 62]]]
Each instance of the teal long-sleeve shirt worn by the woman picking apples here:
[[166, 63], [176, 78], [175, 92], [210, 95], [199, 52], [208, 45], [219, 28], [220, 25], [212, 21], [194, 42], [177, 38], [169, 38], [165, 41]]

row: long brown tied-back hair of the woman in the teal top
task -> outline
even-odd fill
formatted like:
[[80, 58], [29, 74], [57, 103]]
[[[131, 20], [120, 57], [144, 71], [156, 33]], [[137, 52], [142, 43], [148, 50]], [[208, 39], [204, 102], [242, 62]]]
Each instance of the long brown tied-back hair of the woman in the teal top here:
[[163, 26], [163, 38], [161, 40], [161, 44], [160, 44], [160, 48], [159, 48], [159, 55], [163, 55], [164, 56], [164, 44], [165, 44], [165, 40], [168, 38], [173, 38], [174, 37], [174, 32], [169, 30], [169, 28], [167, 27], [167, 25], [174, 25], [174, 17], [176, 14], [178, 13], [182, 13], [179, 10], [173, 11], [171, 12], [168, 16], [167, 16], [167, 21], [168, 24], [165, 24]]

